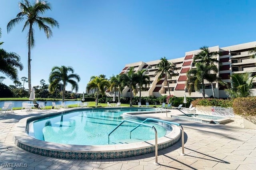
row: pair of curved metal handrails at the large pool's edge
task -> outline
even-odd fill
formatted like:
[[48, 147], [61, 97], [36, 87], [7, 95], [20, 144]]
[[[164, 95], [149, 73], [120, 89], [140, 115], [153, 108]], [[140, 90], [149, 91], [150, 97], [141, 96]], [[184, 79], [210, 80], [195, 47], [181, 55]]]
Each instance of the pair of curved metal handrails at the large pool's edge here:
[[153, 118], [147, 118], [145, 119], [142, 123], [140, 122], [136, 122], [136, 121], [130, 121], [130, 120], [123, 120], [121, 123], [119, 123], [119, 125], [117, 125], [109, 134], [108, 134], [108, 144], [110, 143], [110, 140], [109, 140], [109, 136], [110, 134], [112, 134], [112, 132], [114, 132], [118, 127], [120, 127], [123, 123], [125, 122], [130, 122], [130, 123], [134, 123], [134, 124], [137, 124], [137, 126], [135, 128], [133, 128], [131, 131], [130, 131], [130, 138], [131, 138], [131, 133], [133, 130], [135, 130], [136, 128], [138, 128], [140, 125], [142, 126], [145, 126], [145, 127], [150, 127], [152, 129], [154, 129], [155, 131], [155, 162], [154, 164], [155, 165], [159, 165], [158, 163], [158, 142], [157, 142], [157, 130], [154, 126], [152, 125], [148, 125], [146, 124], [145, 122], [146, 121], [158, 121], [158, 122], [163, 122], [163, 123], [167, 123], [167, 124], [171, 124], [171, 125], [176, 125], [178, 127], [180, 127], [180, 130], [181, 130], [181, 138], [182, 138], [182, 154], [181, 155], [185, 155], [184, 154], [184, 130], [183, 130], [183, 127], [182, 125], [180, 125], [179, 123], [174, 123], [174, 122], [169, 122], [169, 121], [163, 121], [163, 120], [160, 120], [160, 119], [153, 119]]

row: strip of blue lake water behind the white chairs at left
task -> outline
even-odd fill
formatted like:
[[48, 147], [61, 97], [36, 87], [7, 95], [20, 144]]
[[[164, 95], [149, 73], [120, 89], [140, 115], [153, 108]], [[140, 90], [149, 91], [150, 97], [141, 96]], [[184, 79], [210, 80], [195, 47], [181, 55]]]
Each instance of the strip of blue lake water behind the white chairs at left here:
[[[0, 108], [4, 107], [4, 102], [12, 102], [14, 103], [14, 107], [22, 107], [22, 102], [25, 101], [0, 101]], [[33, 103], [32, 101], [27, 101], [28, 103]], [[37, 103], [39, 103], [40, 101], [36, 101]], [[62, 101], [42, 101], [42, 102], [46, 102], [46, 106], [52, 106], [52, 102], [55, 102], [56, 105], [61, 105]], [[65, 101], [66, 105], [75, 105], [77, 103], [82, 103], [81, 101]]]

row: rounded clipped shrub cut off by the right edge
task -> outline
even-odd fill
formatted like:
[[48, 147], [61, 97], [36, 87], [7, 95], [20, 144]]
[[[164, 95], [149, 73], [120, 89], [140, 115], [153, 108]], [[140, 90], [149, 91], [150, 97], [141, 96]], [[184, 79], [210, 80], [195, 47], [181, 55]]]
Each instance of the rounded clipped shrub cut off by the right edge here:
[[256, 116], [256, 97], [238, 97], [234, 99], [233, 111], [236, 115]]

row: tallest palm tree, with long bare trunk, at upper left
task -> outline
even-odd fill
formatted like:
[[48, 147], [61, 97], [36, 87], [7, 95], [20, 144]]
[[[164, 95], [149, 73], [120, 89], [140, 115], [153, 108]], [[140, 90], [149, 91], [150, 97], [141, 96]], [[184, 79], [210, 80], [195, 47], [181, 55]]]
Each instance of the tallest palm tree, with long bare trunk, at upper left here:
[[56, 20], [50, 17], [42, 17], [41, 14], [44, 14], [47, 10], [51, 10], [50, 3], [44, 0], [36, 0], [32, 5], [28, 0], [23, 0], [19, 2], [20, 11], [16, 18], [10, 20], [7, 24], [7, 32], [10, 32], [12, 28], [25, 20], [22, 32], [25, 28], [29, 27], [27, 38], [28, 38], [28, 89], [31, 91], [31, 57], [30, 49], [34, 47], [34, 28], [33, 24], [37, 24], [40, 30], [44, 30], [46, 37], [50, 38], [52, 36], [52, 30], [50, 27], [59, 27], [59, 24]]

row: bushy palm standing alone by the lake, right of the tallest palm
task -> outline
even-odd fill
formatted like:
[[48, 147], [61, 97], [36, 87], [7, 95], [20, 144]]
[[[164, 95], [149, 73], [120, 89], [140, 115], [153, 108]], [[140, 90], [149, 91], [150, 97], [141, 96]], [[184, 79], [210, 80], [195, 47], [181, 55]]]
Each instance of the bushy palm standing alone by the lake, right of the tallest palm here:
[[[69, 74], [69, 72], [71, 72]], [[64, 102], [65, 99], [65, 91], [66, 86], [68, 83], [71, 84], [72, 90], [78, 91], [78, 83], [80, 81], [80, 76], [78, 74], [74, 73], [74, 69], [70, 66], [66, 67], [64, 65], [58, 67], [54, 66], [52, 67], [52, 72], [49, 76], [49, 91], [53, 93], [58, 86], [59, 83], [63, 83], [63, 95], [62, 95], [62, 102]]]

